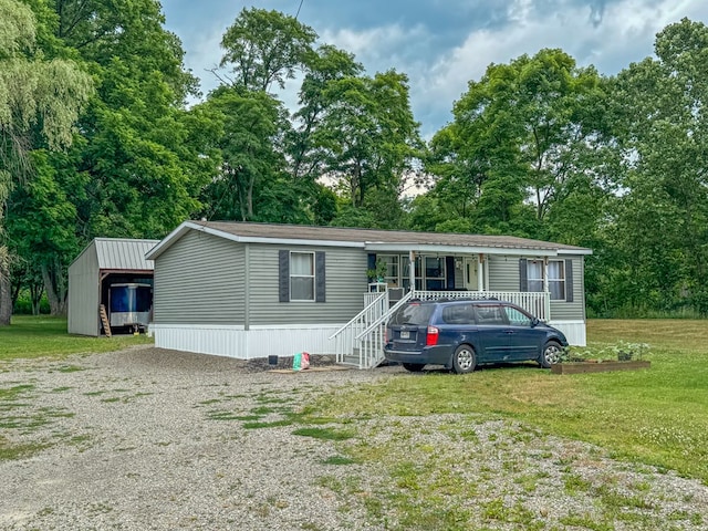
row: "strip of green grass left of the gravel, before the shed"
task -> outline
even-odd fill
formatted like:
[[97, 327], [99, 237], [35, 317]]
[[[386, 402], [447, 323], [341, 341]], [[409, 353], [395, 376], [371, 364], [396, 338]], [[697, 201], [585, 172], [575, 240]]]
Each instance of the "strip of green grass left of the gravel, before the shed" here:
[[[14, 315], [10, 326], [0, 327], [0, 361], [46, 357], [62, 360], [71, 354], [111, 352], [153, 343], [145, 335], [86, 337], [69, 335], [66, 319]], [[70, 372], [74, 367], [66, 367]]]

